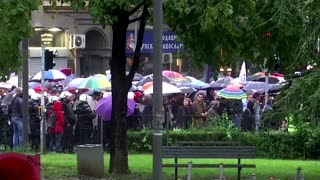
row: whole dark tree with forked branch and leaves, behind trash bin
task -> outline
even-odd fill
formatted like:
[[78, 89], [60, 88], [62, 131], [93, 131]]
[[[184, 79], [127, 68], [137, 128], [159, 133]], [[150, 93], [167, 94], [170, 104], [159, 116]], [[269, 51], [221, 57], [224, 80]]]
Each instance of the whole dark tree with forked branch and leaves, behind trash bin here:
[[[55, 7], [59, 0], [51, 0]], [[128, 166], [126, 109], [127, 94], [132, 86], [132, 79], [140, 63], [144, 27], [149, 15], [150, 0], [64, 0], [75, 9], [87, 8], [95, 21], [102, 26], [111, 25], [113, 30], [111, 84], [113, 138], [110, 151], [109, 172], [113, 174], [130, 173]], [[126, 32], [130, 23], [140, 21], [138, 38], [133, 63], [126, 75]]]

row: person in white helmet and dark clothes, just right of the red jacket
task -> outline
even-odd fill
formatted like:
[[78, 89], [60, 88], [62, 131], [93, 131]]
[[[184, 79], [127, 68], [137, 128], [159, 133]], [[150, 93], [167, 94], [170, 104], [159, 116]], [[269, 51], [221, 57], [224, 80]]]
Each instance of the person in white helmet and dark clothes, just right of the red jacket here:
[[62, 151], [73, 153], [73, 147], [74, 147], [73, 126], [77, 121], [73, 108], [70, 104], [72, 101], [73, 95], [68, 91], [63, 91], [60, 94], [59, 98], [62, 103], [62, 109], [64, 112], [64, 119], [65, 119], [65, 123], [63, 126], [63, 136], [61, 141]]

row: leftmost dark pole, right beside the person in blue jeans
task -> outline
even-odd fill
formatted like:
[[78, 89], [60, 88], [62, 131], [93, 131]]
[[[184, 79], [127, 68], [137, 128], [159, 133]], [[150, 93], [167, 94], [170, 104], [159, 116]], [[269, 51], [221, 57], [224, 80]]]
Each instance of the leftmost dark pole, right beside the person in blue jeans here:
[[[30, 120], [29, 120], [29, 69], [28, 69], [28, 39], [24, 39], [20, 43], [20, 51], [23, 56], [22, 61], [22, 96], [23, 96], [23, 144], [26, 146], [29, 143], [29, 127], [30, 127]], [[19, 73], [20, 74], [20, 73]], [[20, 81], [20, 80], [19, 80]]]

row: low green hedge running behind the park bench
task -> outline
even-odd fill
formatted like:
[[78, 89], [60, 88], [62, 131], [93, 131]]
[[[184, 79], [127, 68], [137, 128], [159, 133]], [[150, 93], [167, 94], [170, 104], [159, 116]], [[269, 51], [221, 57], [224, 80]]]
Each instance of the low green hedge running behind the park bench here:
[[[304, 126], [296, 132], [242, 132], [241, 145], [256, 147], [260, 158], [320, 158], [320, 129]], [[163, 144], [174, 145], [176, 141], [238, 141], [239, 131], [228, 128], [204, 128], [163, 133]], [[152, 130], [129, 131], [128, 148], [131, 152], [152, 151]]]

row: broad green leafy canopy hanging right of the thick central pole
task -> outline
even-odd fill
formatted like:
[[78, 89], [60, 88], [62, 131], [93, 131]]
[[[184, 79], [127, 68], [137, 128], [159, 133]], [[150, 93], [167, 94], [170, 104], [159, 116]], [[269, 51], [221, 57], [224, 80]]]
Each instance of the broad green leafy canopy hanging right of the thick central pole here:
[[167, 0], [164, 15], [196, 64], [218, 69], [267, 58], [269, 69], [290, 71], [314, 59], [317, 7], [313, 0]]

